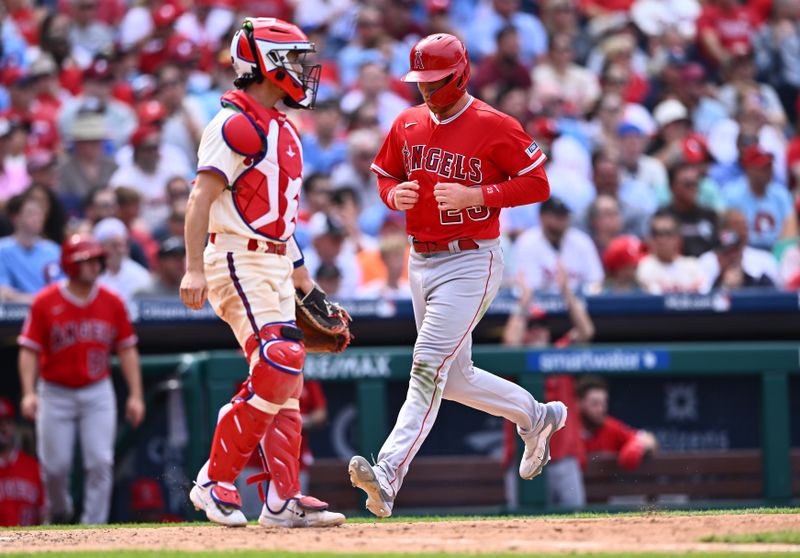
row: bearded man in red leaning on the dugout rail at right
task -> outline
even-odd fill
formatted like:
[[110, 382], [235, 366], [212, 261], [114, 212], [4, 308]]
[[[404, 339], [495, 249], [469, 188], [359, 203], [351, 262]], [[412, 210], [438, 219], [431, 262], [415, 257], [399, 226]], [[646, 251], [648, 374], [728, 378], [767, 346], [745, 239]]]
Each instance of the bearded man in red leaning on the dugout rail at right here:
[[632, 471], [646, 455], [658, 450], [655, 436], [635, 430], [608, 416], [608, 384], [597, 376], [584, 376], [578, 381], [578, 401], [583, 422], [583, 443], [586, 455], [612, 454], [620, 468]]

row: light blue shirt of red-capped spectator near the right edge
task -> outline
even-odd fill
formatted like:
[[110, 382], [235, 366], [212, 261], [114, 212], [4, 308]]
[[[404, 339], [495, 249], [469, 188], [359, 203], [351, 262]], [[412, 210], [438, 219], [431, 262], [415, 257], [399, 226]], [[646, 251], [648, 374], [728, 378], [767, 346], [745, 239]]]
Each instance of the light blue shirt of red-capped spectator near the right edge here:
[[756, 197], [743, 177], [723, 190], [722, 197], [729, 209], [738, 209], [747, 217], [750, 246], [772, 250], [793, 211], [792, 197], [786, 187], [773, 181], [763, 197]]

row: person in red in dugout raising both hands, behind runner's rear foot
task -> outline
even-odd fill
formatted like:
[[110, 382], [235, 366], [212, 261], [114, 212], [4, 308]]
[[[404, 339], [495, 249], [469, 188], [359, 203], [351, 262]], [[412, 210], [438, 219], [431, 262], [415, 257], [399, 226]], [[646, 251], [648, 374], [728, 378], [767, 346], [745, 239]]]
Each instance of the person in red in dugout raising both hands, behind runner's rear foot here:
[[[594, 337], [594, 324], [584, 304], [569, 287], [569, 278], [559, 264], [557, 281], [561, 296], [570, 317], [570, 329], [552, 346], [560, 349], [572, 343], [588, 343]], [[520, 281], [522, 294], [517, 309], [512, 312], [503, 332], [503, 344], [507, 347], [548, 347], [552, 332], [547, 314], [532, 304], [531, 291]], [[563, 401], [569, 409], [577, 409], [575, 378], [568, 375], [549, 376], [545, 380], [545, 400]], [[578, 413], [567, 415], [567, 424], [550, 442], [550, 464], [545, 470], [547, 480], [547, 502], [569, 508], [581, 508], [586, 504], [581, 469], [586, 464], [586, 454], [581, 443], [581, 422]], [[510, 465], [516, 457], [517, 433], [514, 424], [505, 421], [503, 431], [503, 465], [506, 475], [506, 498], [509, 507], [516, 505], [516, 468]]]

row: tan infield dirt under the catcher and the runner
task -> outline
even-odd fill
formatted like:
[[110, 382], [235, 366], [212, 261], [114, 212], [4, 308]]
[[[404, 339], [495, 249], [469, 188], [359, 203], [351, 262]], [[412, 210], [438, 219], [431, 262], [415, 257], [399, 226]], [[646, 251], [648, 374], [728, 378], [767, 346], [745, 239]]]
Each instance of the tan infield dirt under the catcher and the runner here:
[[800, 529], [800, 516], [711, 515], [351, 523], [334, 529], [224, 527], [0, 532], [0, 553], [64, 550], [283, 550], [290, 552], [481, 554], [592, 552], [798, 552], [800, 545], [702, 543], [709, 535]]

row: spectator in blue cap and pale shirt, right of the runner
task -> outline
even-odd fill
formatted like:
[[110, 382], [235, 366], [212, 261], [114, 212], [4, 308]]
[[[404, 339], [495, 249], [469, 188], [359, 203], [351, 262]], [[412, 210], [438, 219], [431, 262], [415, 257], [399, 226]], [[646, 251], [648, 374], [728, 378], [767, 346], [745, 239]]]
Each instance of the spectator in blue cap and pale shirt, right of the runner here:
[[623, 122], [617, 128], [619, 135], [619, 165], [623, 185], [637, 183], [645, 188], [638, 188], [635, 194], [624, 193], [638, 198], [638, 205], [648, 213], [658, 206], [658, 192], [668, 188], [667, 169], [664, 163], [645, 154], [647, 138], [644, 131], [636, 124]]

